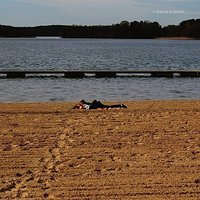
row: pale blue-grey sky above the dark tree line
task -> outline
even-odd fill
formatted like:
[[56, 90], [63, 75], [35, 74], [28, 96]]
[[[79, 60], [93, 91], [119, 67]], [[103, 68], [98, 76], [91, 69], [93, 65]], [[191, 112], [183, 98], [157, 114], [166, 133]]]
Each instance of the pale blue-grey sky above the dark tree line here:
[[200, 18], [200, 0], [0, 0], [0, 24], [110, 25], [157, 21], [162, 26]]

